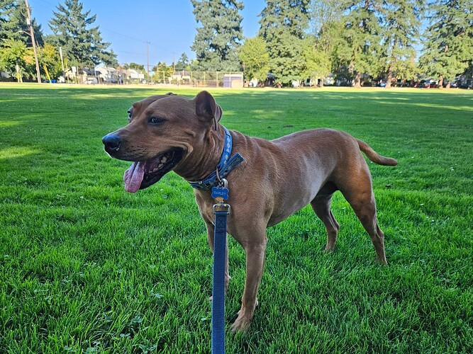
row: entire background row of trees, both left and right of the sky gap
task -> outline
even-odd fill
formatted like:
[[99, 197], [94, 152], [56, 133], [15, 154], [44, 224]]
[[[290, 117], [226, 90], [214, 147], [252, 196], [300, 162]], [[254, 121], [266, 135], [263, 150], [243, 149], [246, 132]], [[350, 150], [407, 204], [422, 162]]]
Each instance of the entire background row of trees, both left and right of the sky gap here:
[[[473, 73], [473, 1], [471, 0], [267, 0], [255, 38], [244, 38], [243, 1], [190, 0], [198, 23], [191, 45], [177, 63], [152, 67], [131, 63], [147, 80], [174, 69], [240, 72], [245, 79], [276, 85], [328, 76], [361, 86], [386, 86], [430, 78], [449, 86]], [[0, 1], [0, 72], [36, 76], [28, 23], [38, 45], [40, 74], [57, 78], [69, 67], [117, 67], [110, 43], [101, 38], [96, 16], [79, 0], [65, 0], [53, 12], [43, 35], [28, 18], [26, 1]], [[60, 51], [61, 50], [61, 51]], [[62, 58], [60, 57], [62, 52]], [[126, 67], [122, 65], [122, 67]]]

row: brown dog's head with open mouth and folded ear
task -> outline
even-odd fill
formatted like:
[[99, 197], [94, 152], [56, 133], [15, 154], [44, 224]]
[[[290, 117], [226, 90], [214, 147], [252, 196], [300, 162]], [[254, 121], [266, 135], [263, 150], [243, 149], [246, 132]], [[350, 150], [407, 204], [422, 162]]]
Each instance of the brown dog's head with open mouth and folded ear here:
[[128, 125], [102, 138], [115, 159], [133, 161], [123, 181], [135, 193], [159, 181], [204, 144], [206, 132], [220, 120], [222, 110], [213, 96], [201, 91], [193, 99], [173, 93], [133, 103]]

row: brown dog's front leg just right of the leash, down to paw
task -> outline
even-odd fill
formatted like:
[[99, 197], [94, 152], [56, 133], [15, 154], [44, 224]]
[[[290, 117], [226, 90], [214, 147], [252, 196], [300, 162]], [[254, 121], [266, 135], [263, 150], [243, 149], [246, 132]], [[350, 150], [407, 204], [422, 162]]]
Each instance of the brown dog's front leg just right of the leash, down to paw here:
[[[253, 236], [255, 237], [255, 236]], [[257, 240], [257, 243], [254, 240]], [[230, 327], [233, 333], [245, 331], [253, 318], [257, 306], [258, 288], [265, 267], [267, 236], [266, 230], [260, 236], [252, 239], [252, 242], [243, 244], [246, 253], [246, 278], [245, 290], [241, 302], [241, 309], [238, 317]]]

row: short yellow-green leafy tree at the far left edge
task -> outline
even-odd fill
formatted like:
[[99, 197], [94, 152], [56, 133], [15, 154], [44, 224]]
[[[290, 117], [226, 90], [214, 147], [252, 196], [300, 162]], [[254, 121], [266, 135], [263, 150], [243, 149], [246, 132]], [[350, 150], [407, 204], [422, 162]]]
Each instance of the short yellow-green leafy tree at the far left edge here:
[[0, 50], [0, 69], [16, 73], [16, 80], [23, 82], [23, 76], [31, 77], [35, 71], [33, 50], [21, 40], [6, 39]]

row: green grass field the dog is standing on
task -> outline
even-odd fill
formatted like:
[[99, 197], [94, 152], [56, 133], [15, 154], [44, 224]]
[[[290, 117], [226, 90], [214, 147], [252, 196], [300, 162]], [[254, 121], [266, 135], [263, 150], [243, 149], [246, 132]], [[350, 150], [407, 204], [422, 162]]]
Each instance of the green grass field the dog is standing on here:
[[[210, 352], [212, 258], [193, 191], [169, 173], [126, 193], [128, 163], [101, 144], [130, 103], [167, 91], [0, 85], [0, 353]], [[229, 129], [332, 127], [399, 161], [369, 164], [389, 266], [341, 195], [333, 253], [306, 207], [268, 230], [260, 306], [228, 353], [472, 353], [473, 92], [211, 93]], [[233, 239], [229, 259], [228, 326], [245, 278]]]

